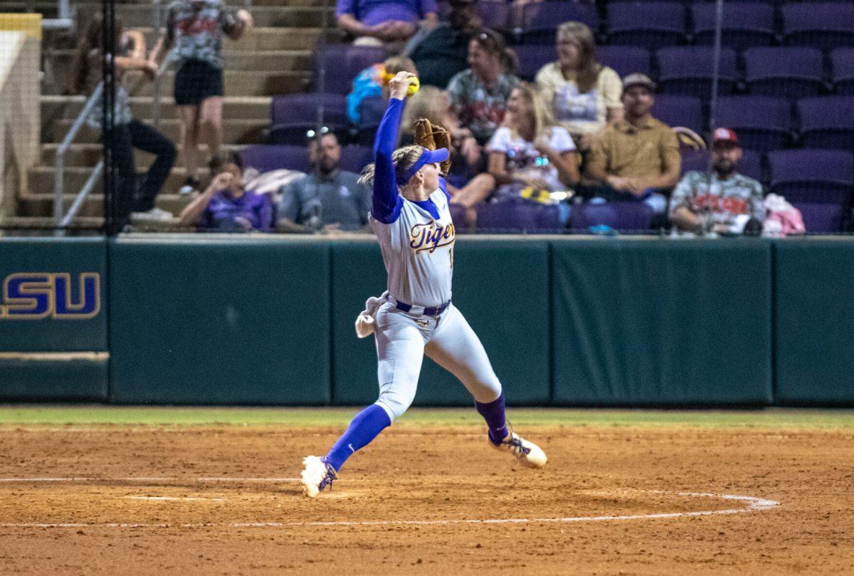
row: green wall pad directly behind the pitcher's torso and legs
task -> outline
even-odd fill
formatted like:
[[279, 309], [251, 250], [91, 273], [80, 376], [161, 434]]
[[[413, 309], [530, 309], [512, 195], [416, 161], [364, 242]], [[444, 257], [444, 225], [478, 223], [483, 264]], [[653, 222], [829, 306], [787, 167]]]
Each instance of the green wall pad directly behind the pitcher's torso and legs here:
[[[548, 244], [529, 239], [458, 238], [453, 303], [477, 332], [506, 392], [507, 403], [547, 404]], [[356, 338], [354, 320], [367, 297], [385, 290], [376, 240], [332, 244], [333, 402], [377, 399], [374, 338]], [[424, 359], [415, 404], [471, 406], [465, 387]]]

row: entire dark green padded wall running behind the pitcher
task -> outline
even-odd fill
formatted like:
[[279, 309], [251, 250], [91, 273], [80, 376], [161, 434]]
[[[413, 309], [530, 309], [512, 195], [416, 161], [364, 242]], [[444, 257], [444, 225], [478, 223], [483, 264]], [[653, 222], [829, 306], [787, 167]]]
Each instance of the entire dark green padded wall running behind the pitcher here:
[[[849, 238], [468, 237], [454, 265], [512, 404], [854, 404]], [[36, 272], [100, 274], [101, 309], [0, 319], [0, 400], [377, 397], [373, 338], [354, 332], [385, 287], [372, 238], [0, 240], [0, 279]], [[427, 360], [415, 403], [471, 397]]]

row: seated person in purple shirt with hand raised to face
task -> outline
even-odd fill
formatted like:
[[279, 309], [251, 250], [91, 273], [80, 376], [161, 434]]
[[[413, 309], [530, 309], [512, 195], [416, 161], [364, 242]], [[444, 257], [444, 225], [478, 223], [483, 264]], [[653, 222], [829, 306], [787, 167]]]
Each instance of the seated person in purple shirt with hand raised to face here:
[[181, 212], [181, 225], [208, 232], [270, 232], [270, 195], [243, 189], [243, 162], [237, 154], [221, 166], [208, 188]]

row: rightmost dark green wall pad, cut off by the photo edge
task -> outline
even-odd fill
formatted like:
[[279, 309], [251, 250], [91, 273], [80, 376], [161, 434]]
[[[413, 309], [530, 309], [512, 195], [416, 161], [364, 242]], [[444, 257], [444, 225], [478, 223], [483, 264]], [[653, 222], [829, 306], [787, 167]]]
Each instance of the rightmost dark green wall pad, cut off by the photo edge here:
[[775, 400], [854, 403], [854, 243], [774, 244]]

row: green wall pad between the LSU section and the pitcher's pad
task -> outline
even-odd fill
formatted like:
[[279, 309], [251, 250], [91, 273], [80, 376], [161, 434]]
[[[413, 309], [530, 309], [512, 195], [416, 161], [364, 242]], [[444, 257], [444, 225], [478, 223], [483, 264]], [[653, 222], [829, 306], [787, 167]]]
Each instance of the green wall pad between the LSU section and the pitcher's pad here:
[[110, 244], [116, 403], [325, 404], [329, 244]]

